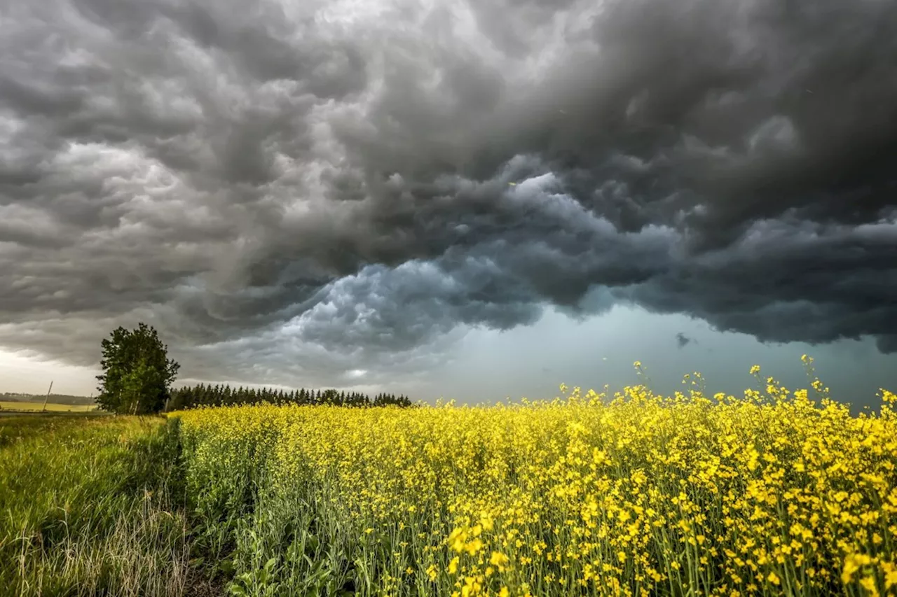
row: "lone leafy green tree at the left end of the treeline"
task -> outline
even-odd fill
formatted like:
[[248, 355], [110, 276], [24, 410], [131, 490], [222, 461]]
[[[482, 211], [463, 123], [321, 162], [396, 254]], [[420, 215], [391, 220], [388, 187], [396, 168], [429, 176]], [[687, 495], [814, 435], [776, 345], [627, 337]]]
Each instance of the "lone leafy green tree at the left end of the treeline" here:
[[180, 365], [168, 358], [168, 346], [147, 324], [135, 330], [118, 327], [101, 342], [102, 375], [97, 402], [105, 411], [143, 414], [159, 412], [170, 396]]

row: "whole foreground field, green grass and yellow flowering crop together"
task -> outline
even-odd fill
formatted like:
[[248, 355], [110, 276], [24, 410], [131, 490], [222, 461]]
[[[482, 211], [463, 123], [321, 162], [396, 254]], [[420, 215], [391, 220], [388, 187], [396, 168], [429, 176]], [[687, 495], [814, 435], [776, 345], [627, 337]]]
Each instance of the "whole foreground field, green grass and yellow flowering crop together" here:
[[854, 416], [818, 382], [767, 380], [738, 398], [695, 384], [0, 419], [0, 587], [893, 594], [897, 416], [882, 399]]

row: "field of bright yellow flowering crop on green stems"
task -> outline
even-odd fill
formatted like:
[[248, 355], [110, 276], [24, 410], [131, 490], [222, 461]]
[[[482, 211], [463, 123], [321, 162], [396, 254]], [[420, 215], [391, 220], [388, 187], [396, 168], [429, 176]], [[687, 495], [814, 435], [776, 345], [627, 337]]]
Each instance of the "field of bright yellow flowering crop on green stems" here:
[[764, 385], [174, 417], [232, 594], [893, 594], [895, 395]]

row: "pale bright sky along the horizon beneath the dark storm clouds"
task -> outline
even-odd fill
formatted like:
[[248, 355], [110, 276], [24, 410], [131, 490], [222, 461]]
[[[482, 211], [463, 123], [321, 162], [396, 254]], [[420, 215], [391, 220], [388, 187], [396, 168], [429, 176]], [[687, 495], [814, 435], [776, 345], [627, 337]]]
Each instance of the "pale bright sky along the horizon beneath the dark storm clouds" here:
[[[633, 361], [640, 360], [658, 391], [681, 389], [684, 374], [698, 370], [711, 393], [740, 395], [745, 388], [757, 387], [748, 373], [753, 364], [762, 366], [762, 376], [775, 376], [791, 389], [807, 387], [800, 362], [805, 353], [814, 357], [816, 373], [842, 402], [875, 407], [880, 387], [897, 388], [893, 359], [876, 350], [873, 342], [764, 345], [747, 334], [716, 332], [684, 316], [651, 315], [630, 307], [614, 307], [585, 321], [550, 311], [536, 324], [508, 332], [470, 330], [458, 334], [442, 363], [417, 375], [396, 379], [392, 385], [364, 385], [367, 372], [361, 370], [349, 383], [372, 393], [395, 391], [428, 402], [550, 398], [558, 394], [560, 383], [599, 392], [605, 384], [613, 391], [640, 383], [644, 379], [632, 368]], [[0, 352], [0, 392], [41, 394], [52, 380], [58, 393], [90, 395], [96, 393], [97, 373], [94, 368]], [[308, 386], [301, 378], [283, 382], [284, 387]]]

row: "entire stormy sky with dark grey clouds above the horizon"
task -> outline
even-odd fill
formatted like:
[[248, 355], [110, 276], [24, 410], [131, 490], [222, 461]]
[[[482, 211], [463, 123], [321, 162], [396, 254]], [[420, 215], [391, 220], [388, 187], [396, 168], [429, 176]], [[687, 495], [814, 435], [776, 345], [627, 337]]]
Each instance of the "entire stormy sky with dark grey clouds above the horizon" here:
[[[0, 391], [897, 387], [897, 4], [0, 5]], [[779, 373], [780, 372], [780, 373]], [[806, 385], [806, 384], [805, 384]]]

